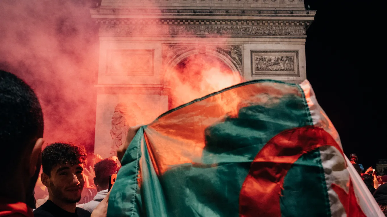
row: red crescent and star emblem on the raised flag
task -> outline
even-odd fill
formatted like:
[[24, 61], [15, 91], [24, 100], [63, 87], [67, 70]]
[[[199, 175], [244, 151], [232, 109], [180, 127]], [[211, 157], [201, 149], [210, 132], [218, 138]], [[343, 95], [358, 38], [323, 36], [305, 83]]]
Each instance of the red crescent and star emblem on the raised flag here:
[[[280, 217], [281, 189], [288, 170], [301, 155], [326, 145], [337, 148], [344, 156], [334, 138], [322, 128], [305, 126], [282, 131], [274, 136], [255, 156], [243, 182], [239, 198], [239, 216]], [[344, 194], [346, 192], [338, 186], [332, 188], [339, 195], [344, 208], [348, 204], [345, 201], [357, 204], [354, 193], [351, 193], [353, 188], [349, 189], [349, 194]], [[359, 205], [357, 206], [363, 214]], [[347, 208], [345, 210], [349, 214]]]

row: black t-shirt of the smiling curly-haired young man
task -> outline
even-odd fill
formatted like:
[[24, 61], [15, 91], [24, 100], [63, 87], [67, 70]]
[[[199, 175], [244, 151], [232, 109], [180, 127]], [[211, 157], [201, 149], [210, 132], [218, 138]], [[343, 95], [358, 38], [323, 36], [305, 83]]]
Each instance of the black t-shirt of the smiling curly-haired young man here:
[[51, 200], [47, 200], [43, 205], [34, 210], [34, 217], [90, 217], [89, 211], [75, 208], [75, 213], [67, 212], [66, 210], [55, 205]]

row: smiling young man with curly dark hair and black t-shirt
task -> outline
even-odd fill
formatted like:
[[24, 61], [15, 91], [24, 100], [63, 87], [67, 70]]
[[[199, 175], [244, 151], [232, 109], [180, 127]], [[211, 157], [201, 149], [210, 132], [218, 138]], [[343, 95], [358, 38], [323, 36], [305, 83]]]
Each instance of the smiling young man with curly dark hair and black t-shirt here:
[[86, 164], [83, 147], [53, 143], [42, 152], [41, 181], [48, 189], [48, 200], [34, 210], [35, 217], [90, 217], [90, 212], [76, 207], [85, 184]]

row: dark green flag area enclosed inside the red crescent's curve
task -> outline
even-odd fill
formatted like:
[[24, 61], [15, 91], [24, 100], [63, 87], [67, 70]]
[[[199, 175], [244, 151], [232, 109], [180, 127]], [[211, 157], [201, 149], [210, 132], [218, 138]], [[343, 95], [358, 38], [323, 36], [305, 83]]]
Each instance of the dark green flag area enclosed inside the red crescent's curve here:
[[285, 176], [283, 188], [283, 217], [331, 216], [319, 148], [298, 158]]

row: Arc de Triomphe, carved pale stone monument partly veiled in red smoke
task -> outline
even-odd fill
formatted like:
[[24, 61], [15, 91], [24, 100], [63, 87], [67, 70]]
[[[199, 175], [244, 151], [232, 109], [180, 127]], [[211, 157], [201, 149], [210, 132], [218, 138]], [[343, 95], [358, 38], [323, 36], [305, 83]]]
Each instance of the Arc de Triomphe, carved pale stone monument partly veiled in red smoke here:
[[303, 0], [102, 0], [95, 153], [114, 155], [128, 126], [170, 108], [169, 71], [216, 57], [245, 80], [306, 79]]

